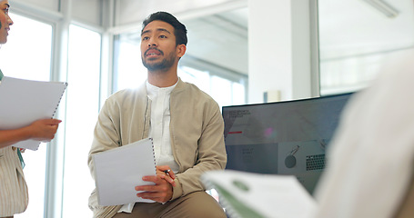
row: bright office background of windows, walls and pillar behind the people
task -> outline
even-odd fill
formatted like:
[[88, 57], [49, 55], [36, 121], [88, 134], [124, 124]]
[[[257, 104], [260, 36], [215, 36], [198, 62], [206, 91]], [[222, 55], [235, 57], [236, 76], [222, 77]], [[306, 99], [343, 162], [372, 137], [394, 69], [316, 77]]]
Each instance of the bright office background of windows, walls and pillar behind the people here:
[[220, 106], [357, 92], [389, 56], [414, 45], [412, 0], [9, 3], [15, 24], [0, 49], [3, 73], [69, 84], [56, 139], [24, 154], [30, 203], [17, 218], [91, 216], [86, 160], [97, 114], [107, 96], [145, 81], [139, 35], [153, 12], [187, 25], [179, 76]]

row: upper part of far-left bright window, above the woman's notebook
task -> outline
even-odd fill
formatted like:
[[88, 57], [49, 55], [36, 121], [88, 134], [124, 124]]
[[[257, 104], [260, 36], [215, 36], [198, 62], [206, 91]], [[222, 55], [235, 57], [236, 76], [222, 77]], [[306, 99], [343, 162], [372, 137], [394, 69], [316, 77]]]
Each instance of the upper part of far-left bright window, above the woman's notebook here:
[[[23, 79], [50, 79], [52, 26], [10, 13], [7, 43], [0, 45], [1, 68], [5, 75]], [[28, 36], [29, 35], [29, 36]]]

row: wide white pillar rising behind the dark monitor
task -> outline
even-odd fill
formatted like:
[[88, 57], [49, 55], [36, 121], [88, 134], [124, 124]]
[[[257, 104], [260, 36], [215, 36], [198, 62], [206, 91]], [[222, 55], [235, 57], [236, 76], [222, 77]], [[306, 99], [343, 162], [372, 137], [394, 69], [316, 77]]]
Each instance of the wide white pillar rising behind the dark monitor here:
[[308, 0], [249, 0], [249, 104], [311, 96]]

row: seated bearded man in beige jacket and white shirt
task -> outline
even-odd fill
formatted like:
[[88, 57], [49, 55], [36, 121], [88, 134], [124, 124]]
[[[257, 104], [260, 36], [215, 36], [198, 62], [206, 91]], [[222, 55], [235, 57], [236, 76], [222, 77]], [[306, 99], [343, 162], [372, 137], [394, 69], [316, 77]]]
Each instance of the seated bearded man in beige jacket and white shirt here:
[[106, 100], [89, 154], [94, 175], [93, 154], [153, 138], [157, 176], [143, 180], [155, 185], [131, 192], [157, 203], [101, 206], [94, 192], [89, 198], [94, 217], [226, 217], [199, 180], [201, 173], [226, 166], [224, 122], [210, 96], [177, 76], [186, 45], [186, 26], [173, 15], [157, 12], [144, 21], [141, 58], [147, 81]]

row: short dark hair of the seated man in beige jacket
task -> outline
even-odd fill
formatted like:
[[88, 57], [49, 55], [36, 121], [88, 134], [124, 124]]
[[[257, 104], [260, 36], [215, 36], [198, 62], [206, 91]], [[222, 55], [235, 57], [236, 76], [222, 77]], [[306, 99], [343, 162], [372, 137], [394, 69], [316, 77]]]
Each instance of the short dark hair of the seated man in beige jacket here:
[[156, 12], [146, 17], [142, 22], [142, 31], [149, 23], [159, 20], [164, 21], [174, 27], [174, 35], [176, 35], [176, 45], [187, 45], [187, 28], [186, 25], [181, 24], [174, 15], [167, 12]]

